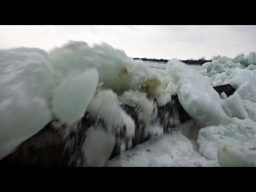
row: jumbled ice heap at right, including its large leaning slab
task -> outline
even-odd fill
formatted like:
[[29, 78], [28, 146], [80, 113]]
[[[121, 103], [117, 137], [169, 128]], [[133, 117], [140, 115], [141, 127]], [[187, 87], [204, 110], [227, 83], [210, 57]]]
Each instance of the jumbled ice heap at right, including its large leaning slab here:
[[[199, 152], [221, 166], [256, 165], [255, 64], [255, 52], [204, 63], [199, 73], [177, 60], [167, 63], [181, 105], [203, 126]], [[236, 90], [228, 98], [212, 88], [228, 83]]]

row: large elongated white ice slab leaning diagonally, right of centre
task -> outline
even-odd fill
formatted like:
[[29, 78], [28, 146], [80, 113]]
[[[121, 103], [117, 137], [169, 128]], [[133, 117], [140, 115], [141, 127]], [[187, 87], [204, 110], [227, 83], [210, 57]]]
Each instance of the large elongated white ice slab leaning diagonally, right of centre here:
[[219, 125], [227, 117], [219, 94], [203, 75], [175, 59], [167, 63], [167, 71], [177, 85], [182, 107], [191, 117], [205, 125]]

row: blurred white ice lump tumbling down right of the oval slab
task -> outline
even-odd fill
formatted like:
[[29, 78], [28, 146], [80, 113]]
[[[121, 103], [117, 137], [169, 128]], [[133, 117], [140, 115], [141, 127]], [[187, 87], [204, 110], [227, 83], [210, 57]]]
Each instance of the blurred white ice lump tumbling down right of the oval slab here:
[[121, 108], [117, 95], [112, 90], [99, 90], [91, 100], [87, 111], [102, 118], [109, 132], [119, 133], [121, 127], [125, 126], [125, 136], [131, 138], [134, 135], [134, 121]]

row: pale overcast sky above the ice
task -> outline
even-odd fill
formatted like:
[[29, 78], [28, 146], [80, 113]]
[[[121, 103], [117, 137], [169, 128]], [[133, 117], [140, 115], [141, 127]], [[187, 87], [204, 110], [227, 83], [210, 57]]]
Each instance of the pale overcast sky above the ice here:
[[0, 49], [106, 42], [129, 57], [198, 59], [256, 51], [256, 26], [0, 26]]

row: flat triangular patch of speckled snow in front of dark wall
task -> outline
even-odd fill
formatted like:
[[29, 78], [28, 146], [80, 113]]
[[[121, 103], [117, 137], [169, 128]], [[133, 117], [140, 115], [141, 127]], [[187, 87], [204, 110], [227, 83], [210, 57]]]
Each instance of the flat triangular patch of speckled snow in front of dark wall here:
[[178, 131], [153, 138], [107, 161], [105, 166], [219, 166], [195, 150], [196, 144]]

